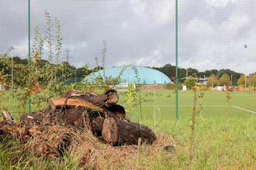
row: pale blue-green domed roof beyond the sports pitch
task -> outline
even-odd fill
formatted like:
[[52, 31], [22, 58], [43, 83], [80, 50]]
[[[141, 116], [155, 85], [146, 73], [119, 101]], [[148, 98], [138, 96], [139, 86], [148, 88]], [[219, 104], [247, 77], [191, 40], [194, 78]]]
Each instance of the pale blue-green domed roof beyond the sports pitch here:
[[[136, 77], [137, 75], [138, 78], [140, 78], [140, 84], [172, 83], [169, 77], [164, 73], [144, 66], [115, 66], [109, 69], [105, 69], [105, 76], [112, 76], [112, 78], [116, 78], [121, 72], [122, 75], [120, 76], [120, 79], [123, 81], [123, 83], [138, 83], [138, 79]], [[99, 72], [89, 76], [88, 80], [90, 80], [92, 77], [99, 76], [99, 73], [103, 76], [103, 70], [99, 70]]]

